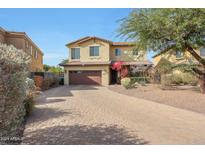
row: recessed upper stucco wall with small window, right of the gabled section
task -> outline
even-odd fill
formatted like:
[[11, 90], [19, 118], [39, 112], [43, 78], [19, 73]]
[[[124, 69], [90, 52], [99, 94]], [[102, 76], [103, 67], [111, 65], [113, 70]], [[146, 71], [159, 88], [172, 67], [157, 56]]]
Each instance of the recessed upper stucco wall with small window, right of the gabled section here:
[[[115, 49], [119, 48], [121, 50], [121, 55], [115, 55]], [[135, 46], [111, 46], [110, 59], [113, 61], [145, 61], [146, 53], [139, 51], [138, 55], [133, 55], [133, 50]]]

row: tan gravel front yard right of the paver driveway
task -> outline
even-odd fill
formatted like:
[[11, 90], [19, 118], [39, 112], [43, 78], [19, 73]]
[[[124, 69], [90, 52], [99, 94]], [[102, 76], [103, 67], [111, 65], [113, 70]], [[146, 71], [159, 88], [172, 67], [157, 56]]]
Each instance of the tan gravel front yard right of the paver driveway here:
[[109, 89], [128, 96], [205, 114], [205, 95], [201, 94], [197, 87], [184, 90], [162, 90], [159, 85], [150, 84], [128, 90], [120, 85], [112, 85]]

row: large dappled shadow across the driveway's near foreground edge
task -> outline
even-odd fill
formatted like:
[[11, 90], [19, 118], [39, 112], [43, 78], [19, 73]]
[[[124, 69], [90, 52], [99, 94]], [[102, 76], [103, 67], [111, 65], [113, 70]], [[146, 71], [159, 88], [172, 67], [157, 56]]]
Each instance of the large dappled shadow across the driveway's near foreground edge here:
[[113, 126], [55, 126], [29, 133], [23, 144], [69, 144], [69, 145], [137, 145], [149, 142], [131, 136], [123, 128]]

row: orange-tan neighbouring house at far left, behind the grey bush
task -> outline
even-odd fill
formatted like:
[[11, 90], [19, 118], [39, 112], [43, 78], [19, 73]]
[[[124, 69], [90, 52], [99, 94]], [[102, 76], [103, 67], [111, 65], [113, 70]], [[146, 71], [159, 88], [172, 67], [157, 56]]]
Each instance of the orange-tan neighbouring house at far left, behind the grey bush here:
[[31, 72], [43, 71], [43, 52], [25, 32], [6, 31], [0, 27], [0, 43], [11, 44], [31, 55]]

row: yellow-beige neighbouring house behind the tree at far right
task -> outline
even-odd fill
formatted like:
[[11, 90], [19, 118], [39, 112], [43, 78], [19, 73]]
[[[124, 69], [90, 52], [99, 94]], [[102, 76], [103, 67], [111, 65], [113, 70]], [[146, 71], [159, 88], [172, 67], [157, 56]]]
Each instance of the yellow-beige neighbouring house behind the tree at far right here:
[[[205, 58], [205, 48], [200, 48], [197, 53]], [[173, 51], [164, 54], [156, 54], [153, 56], [153, 63], [156, 66], [161, 58], [165, 58], [174, 64], [199, 64], [199, 62], [188, 52]]]

